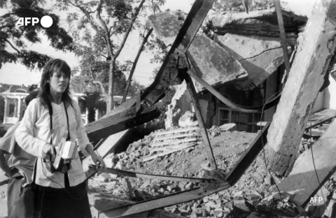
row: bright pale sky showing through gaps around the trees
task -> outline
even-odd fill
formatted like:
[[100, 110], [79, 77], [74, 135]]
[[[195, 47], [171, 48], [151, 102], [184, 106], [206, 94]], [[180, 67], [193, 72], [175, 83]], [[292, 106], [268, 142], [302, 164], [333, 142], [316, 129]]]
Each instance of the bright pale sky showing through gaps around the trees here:
[[[237, 0], [238, 1], [238, 0]], [[306, 15], [309, 17], [311, 15], [311, 10], [314, 6], [315, 0], [285, 0], [288, 4], [287, 7], [289, 10], [292, 10], [297, 15]], [[48, 0], [47, 0], [48, 2]], [[193, 4], [194, 0], [167, 0], [165, 6], [161, 7], [161, 10], [166, 10], [169, 8], [170, 10], [182, 10], [185, 13], [190, 11], [190, 8]], [[45, 8], [51, 7], [52, 4], [47, 3]], [[6, 10], [0, 9], [0, 15], [6, 13]], [[57, 13], [57, 15], [61, 17], [61, 24], [64, 25], [64, 29], [66, 29], [67, 25], [65, 20], [62, 20], [62, 17], [66, 17], [64, 13]], [[48, 46], [48, 41], [42, 38], [41, 43], [36, 44], [28, 44], [29, 49], [36, 51], [43, 51], [43, 53], [50, 55], [53, 58], [60, 58], [66, 60], [71, 68], [78, 66], [80, 58], [76, 57], [73, 53], [67, 52], [64, 53], [62, 51], [57, 51]], [[121, 38], [120, 38], [121, 40]], [[120, 53], [118, 57], [118, 61], [127, 61], [130, 59], [134, 60], [138, 48], [141, 45], [141, 41], [139, 41], [139, 34], [137, 32], [131, 33], [129, 38], [127, 39], [127, 43], [123, 52]], [[134, 71], [134, 80], [137, 80], [141, 85], [151, 85], [151, 78], [153, 77], [153, 69], [155, 67], [160, 66], [160, 64], [151, 64], [149, 59], [152, 57], [151, 53], [142, 52], [139, 62], [137, 64], [137, 68]], [[128, 74], [126, 74], [126, 78], [128, 78]], [[6, 83], [10, 85], [31, 85], [38, 84], [41, 79], [41, 71], [38, 70], [29, 70], [25, 66], [21, 64], [3, 64], [0, 69], [0, 83]]]

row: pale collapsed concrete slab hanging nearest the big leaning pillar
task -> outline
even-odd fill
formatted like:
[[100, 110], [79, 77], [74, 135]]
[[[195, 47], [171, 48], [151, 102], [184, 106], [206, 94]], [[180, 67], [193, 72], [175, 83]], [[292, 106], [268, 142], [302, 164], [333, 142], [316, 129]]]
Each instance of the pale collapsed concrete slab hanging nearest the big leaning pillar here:
[[248, 72], [248, 80], [235, 82], [237, 89], [254, 89], [283, 64], [283, 50], [278, 38], [225, 34], [216, 36], [215, 41]]

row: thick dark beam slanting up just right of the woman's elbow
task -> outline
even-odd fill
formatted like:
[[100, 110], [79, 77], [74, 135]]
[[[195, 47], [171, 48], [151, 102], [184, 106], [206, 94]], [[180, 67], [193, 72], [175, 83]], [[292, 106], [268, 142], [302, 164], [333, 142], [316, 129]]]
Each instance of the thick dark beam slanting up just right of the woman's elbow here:
[[[132, 108], [128, 110], [131, 111]], [[88, 124], [86, 126], [87, 137], [90, 141], [100, 140], [114, 133], [149, 122], [159, 116], [160, 110], [154, 107], [144, 108], [144, 106], [141, 106], [139, 113], [131, 112], [130, 114], [127, 114], [127, 112], [120, 112], [116, 115], [98, 119], [97, 121]]]

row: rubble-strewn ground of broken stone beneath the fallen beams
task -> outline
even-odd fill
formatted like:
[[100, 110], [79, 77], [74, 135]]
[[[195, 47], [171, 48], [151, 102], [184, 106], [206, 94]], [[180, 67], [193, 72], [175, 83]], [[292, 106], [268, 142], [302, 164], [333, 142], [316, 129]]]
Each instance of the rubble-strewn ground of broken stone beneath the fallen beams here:
[[[218, 168], [223, 170], [224, 173], [229, 173], [241, 154], [248, 148], [249, 143], [257, 136], [256, 133], [221, 131], [216, 126], [211, 128], [208, 133], [216, 163]], [[161, 135], [158, 136], [159, 134]], [[164, 140], [155, 140], [158, 138], [164, 138]], [[176, 146], [176, 143], [182, 140], [185, 143]], [[169, 143], [162, 143], [165, 141]], [[302, 140], [300, 152], [308, 149], [309, 145], [308, 140]], [[161, 150], [160, 147], [162, 148]], [[171, 149], [169, 150], [167, 147]], [[176, 147], [186, 148], [176, 150]], [[172, 152], [172, 150], [176, 151]], [[150, 136], [132, 143], [126, 152], [116, 156], [111, 154], [105, 161], [109, 167], [113, 166], [123, 170], [157, 175], [202, 177], [204, 170], [210, 170], [207, 152], [202, 145], [200, 133], [195, 130], [195, 127], [194, 130], [190, 131], [181, 131], [181, 129], [155, 131]], [[155, 198], [172, 194], [176, 191], [192, 189], [200, 185], [193, 182], [148, 180], [132, 177], [125, 179], [116, 175], [102, 173], [89, 180], [89, 187], [92, 191], [103, 191], [120, 199], [130, 200], [127, 182], [132, 186], [132, 201]], [[165, 208], [165, 210], [182, 217], [193, 218], [276, 217], [276, 215], [278, 217], [295, 217], [299, 215], [302, 211], [288, 201], [289, 196], [286, 193], [281, 194], [281, 196], [279, 193], [272, 193], [272, 190], [276, 190], [274, 182], [279, 183], [280, 180], [276, 176], [271, 176], [267, 173], [264, 155], [263, 152], [260, 152], [234, 187], [196, 201], [173, 205]], [[336, 198], [336, 193], [333, 194], [335, 187], [336, 177], [331, 177], [323, 186], [325, 198], [328, 197], [328, 200]], [[333, 201], [331, 203], [333, 204]], [[308, 213], [302, 212], [297, 217], [322, 217], [323, 208], [324, 206], [315, 207], [309, 205], [307, 208]], [[330, 211], [328, 212], [331, 214]], [[325, 215], [327, 215], [326, 212]]]

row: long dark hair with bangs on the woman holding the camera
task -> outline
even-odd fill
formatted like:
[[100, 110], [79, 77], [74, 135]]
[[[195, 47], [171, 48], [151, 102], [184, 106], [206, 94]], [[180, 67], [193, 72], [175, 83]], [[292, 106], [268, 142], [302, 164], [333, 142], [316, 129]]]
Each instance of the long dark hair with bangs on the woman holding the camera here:
[[[50, 85], [48, 80], [50, 81], [50, 78], [54, 73], [64, 73], [66, 76], [69, 77], [69, 83], [66, 87], [65, 91], [62, 94], [62, 101], [66, 106], [71, 105], [71, 92], [70, 92], [70, 78], [71, 78], [71, 69], [68, 64], [66, 64], [66, 61], [63, 61], [61, 59], [51, 59], [48, 61], [47, 64], [45, 64], [43, 68], [43, 73], [41, 77], [40, 87], [41, 91], [38, 94], [38, 97], [41, 99], [41, 103], [45, 108], [48, 108], [49, 110], [52, 110], [51, 107], [51, 94], [50, 94]], [[52, 112], [51, 112], [52, 114]]]

